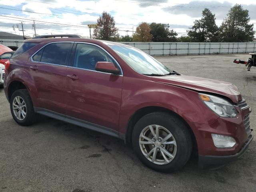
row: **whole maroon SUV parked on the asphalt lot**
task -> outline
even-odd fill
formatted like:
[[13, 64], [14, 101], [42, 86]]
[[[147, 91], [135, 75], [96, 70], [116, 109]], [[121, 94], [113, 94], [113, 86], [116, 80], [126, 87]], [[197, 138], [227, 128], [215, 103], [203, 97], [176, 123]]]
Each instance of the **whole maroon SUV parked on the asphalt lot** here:
[[252, 141], [250, 107], [231, 83], [180, 75], [148, 54], [82, 38], [26, 40], [6, 63], [14, 120], [43, 114], [121, 138], [150, 168], [201, 167], [239, 158]]

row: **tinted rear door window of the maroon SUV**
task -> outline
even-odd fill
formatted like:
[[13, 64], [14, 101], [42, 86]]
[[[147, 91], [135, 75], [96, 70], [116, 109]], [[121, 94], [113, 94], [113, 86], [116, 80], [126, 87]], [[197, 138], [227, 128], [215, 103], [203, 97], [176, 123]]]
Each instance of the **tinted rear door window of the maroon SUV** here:
[[33, 60], [66, 66], [66, 58], [71, 48], [71, 44], [72, 43], [66, 42], [48, 44], [33, 56]]

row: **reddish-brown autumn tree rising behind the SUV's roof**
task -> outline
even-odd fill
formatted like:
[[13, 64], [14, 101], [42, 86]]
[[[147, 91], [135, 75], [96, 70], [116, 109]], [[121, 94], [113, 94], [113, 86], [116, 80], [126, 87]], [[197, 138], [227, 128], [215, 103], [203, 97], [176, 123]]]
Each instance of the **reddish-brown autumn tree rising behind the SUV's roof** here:
[[101, 40], [116, 40], [118, 38], [118, 30], [115, 27], [115, 20], [107, 12], [103, 12], [97, 19], [98, 26], [93, 31], [93, 36]]

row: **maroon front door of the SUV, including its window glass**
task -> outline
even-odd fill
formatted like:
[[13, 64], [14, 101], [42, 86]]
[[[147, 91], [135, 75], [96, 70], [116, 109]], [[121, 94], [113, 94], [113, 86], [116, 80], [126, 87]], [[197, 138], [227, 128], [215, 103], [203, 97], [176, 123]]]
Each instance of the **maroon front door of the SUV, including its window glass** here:
[[74, 61], [66, 70], [66, 116], [118, 131], [123, 76], [95, 70], [96, 62], [116, 62], [92, 44], [77, 43], [74, 49]]

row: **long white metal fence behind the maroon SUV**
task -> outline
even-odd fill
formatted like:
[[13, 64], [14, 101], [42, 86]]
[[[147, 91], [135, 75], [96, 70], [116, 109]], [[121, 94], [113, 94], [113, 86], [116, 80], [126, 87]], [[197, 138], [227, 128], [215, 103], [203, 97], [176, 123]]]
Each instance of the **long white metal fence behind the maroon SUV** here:
[[[5, 46], [19, 47], [22, 40], [0, 40]], [[182, 43], [182, 42], [122, 42], [150, 55], [204, 55], [256, 52], [256, 42], [248, 43]]]

